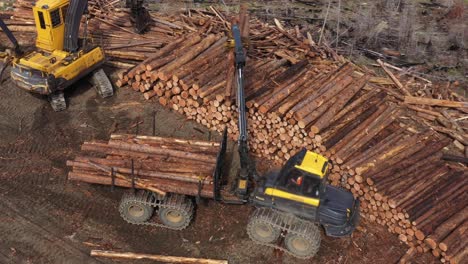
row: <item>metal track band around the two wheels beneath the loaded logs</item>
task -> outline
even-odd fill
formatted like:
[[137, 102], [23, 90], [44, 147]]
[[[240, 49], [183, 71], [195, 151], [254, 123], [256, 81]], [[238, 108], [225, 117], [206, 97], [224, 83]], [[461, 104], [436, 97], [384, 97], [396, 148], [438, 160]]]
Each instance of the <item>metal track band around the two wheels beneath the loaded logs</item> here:
[[[123, 211], [125, 208], [125, 204], [132, 203], [132, 204], [140, 204], [142, 206], [151, 206], [152, 208], [158, 210], [158, 212], [162, 211], [177, 211], [180, 212], [183, 216], [183, 222], [181, 222], [177, 226], [170, 226], [163, 223], [154, 222], [154, 218], [156, 218], [154, 213], [152, 217], [145, 222], [136, 222], [132, 219], [128, 218], [126, 213]], [[167, 194], [165, 197], [154, 194], [149, 191], [138, 191], [138, 192], [127, 192], [122, 196], [122, 200], [120, 201], [119, 211], [121, 217], [130, 224], [134, 225], [144, 225], [144, 226], [155, 226], [155, 227], [162, 227], [172, 230], [183, 230], [187, 228], [190, 224], [193, 213], [194, 213], [194, 206], [193, 203], [188, 200], [185, 195], [179, 194]]]

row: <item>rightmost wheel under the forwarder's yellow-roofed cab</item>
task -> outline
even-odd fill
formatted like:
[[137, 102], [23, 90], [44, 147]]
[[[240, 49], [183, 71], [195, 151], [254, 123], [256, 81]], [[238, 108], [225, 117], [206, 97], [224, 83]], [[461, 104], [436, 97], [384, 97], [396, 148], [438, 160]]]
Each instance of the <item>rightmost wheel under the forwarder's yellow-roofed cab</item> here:
[[307, 233], [288, 233], [284, 238], [286, 249], [298, 258], [311, 258], [320, 249], [320, 230], [311, 225]]

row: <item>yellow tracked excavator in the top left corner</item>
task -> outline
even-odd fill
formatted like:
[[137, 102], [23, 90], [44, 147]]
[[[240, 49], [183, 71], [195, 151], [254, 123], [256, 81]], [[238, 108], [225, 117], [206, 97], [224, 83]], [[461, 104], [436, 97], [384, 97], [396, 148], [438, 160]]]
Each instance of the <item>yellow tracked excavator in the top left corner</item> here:
[[[114, 94], [102, 70], [105, 61], [101, 47], [89, 43], [87, 0], [39, 0], [33, 7], [37, 38], [36, 50], [22, 54], [18, 42], [0, 21], [14, 46], [11, 78], [20, 88], [47, 95], [55, 111], [66, 109], [63, 91], [91, 74], [91, 83], [103, 98]], [[86, 15], [84, 38], [80, 39], [81, 18]]]

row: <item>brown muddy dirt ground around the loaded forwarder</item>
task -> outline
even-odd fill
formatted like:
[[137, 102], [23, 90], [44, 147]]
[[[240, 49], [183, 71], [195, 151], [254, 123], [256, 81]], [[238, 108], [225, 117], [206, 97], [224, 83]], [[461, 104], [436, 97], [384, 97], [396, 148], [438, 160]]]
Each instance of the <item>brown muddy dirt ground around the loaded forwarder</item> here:
[[323, 237], [315, 258], [298, 260], [249, 240], [245, 226], [252, 208], [210, 201], [198, 205], [184, 231], [127, 224], [117, 209], [125, 190], [67, 181], [65, 162], [78, 155], [83, 141], [105, 140], [113, 131], [150, 135], [154, 114], [156, 135], [219, 135], [127, 89], [101, 99], [82, 82], [67, 99], [68, 109], [55, 113], [44, 98], [10, 80], [0, 86], [0, 263], [113, 263], [90, 257], [91, 249], [229, 263], [396, 263], [407, 250], [396, 236], [363, 219], [352, 238]]

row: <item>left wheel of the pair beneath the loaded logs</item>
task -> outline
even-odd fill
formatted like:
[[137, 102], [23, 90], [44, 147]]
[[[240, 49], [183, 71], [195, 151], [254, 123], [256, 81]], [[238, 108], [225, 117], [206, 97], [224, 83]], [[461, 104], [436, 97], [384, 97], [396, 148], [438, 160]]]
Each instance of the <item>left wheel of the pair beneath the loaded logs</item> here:
[[142, 195], [126, 193], [120, 201], [120, 215], [128, 223], [145, 223], [153, 216], [154, 207], [148, 204], [144, 204], [141, 201], [141, 196]]

